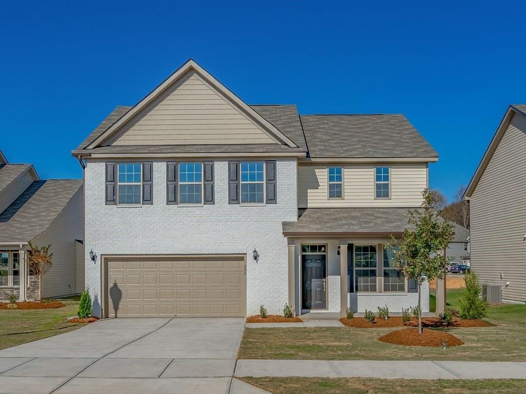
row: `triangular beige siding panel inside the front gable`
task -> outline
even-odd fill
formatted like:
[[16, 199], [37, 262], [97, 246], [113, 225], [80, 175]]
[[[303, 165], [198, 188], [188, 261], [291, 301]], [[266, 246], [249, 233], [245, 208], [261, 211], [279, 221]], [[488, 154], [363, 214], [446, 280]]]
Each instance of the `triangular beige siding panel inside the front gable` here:
[[196, 74], [167, 92], [113, 145], [276, 143]]

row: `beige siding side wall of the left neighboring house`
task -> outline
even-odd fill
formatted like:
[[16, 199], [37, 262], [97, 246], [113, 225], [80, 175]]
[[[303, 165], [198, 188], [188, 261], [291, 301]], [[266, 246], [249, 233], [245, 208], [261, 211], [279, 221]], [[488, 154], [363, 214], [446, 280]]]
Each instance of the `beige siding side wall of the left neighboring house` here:
[[43, 297], [76, 293], [75, 240], [82, 240], [83, 232], [83, 194], [80, 188], [47, 230], [33, 240], [38, 246], [51, 244], [50, 252], [53, 253], [53, 266], [44, 276]]

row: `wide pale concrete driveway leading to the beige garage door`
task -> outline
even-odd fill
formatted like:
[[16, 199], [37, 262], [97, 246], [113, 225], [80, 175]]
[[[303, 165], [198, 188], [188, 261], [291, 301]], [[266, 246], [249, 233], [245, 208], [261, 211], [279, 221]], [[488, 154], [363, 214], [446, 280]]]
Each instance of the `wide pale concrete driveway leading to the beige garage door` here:
[[[1, 392], [228, 393], [244, 323], [242, 318], [100, 320], [0, 350]], [[251, 392], [251, 386], [235, 385], [237, 392]]]

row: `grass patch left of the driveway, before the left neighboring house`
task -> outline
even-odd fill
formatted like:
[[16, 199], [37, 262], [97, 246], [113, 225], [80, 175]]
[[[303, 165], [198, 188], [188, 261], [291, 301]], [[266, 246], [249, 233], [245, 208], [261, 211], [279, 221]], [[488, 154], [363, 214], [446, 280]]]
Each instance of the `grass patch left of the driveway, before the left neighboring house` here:
[[78, 302], [68, 300], [64, 303], [66, 306], [54, 309], [0, 309], [0, 349], [82, 327], [82, 324], [67, 323], [67, 317], [77, 314]]

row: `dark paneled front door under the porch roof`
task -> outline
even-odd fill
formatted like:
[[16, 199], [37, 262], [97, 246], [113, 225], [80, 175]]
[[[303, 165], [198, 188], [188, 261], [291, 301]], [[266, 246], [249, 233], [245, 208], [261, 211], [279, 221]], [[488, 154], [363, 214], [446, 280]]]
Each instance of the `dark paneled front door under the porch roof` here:
[[303, 308], [327, 308], [326, 268], [325, 254], [304, 254], [301, 256]]

